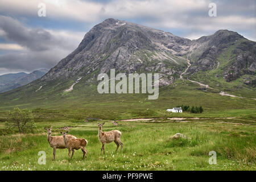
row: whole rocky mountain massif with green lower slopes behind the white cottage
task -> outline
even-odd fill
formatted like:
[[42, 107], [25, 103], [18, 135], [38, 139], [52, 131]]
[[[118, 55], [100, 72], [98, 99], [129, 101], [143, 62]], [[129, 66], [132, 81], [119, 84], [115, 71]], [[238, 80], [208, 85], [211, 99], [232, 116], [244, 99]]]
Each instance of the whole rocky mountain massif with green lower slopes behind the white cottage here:
[[[46, 75], [0, 94], [0, 101], [10, 106], [25, 103], [47, 106], [118, 100], [122, 94], [97, 93], [98, 74], [109, 74], [115, 68], [116, 74], [159, 73], [159, 97], [164, 96], [164, 101], [172, 98], [174, 103], [189, 102], [192, 99], [187, 95], [189, 90], [191, 94], [195, 92], [198, 101], [204, 97], [206, 103], [209, 97], [208, 107], [212, 108], [213, 95], [217, 102], [223, 99], [219, 94], [222, 92], [241, 98], [256, 97], [255, 46], [255, 42], [229, 30], [189, 40], [110, 18], [87, 32], [75, 51]], [[127, 94], [127, 100], [132, 98], [132, 94]], [[229, 106], [237, 104], [234, 102]]]

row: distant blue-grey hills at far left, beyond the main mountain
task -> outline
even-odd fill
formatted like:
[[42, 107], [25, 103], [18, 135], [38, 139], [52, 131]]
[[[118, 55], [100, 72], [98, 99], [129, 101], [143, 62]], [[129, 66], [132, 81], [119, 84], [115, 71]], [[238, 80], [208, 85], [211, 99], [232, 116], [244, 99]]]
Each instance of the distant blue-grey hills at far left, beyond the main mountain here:
[[46, 74], [48, 69], [39, 69], [31, 73], [10, 73], [0, 76], [0, 93], [7, 92], [18, 88], [19, 86], [26, 85], [31, 81], [34, 81], [44, 74]]

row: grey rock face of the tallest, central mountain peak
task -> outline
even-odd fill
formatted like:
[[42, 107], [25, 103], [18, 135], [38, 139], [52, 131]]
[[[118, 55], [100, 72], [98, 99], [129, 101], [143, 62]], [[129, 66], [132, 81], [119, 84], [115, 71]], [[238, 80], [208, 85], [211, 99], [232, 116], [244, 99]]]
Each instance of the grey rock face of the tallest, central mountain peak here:
[[[106, 19], [84, 36], [79, 47], [60, 61], [41, 80], [73, 78], [90, 73], [159, 72], [170, 84], [187, 67], [179, 58], [191, 40], [139, 24]], [[179, 60], [180, 59], [180, 60]], [[176, 76], [177, 77], [177, 76]], [[166, 85], [164, 84], [164, 85]]]

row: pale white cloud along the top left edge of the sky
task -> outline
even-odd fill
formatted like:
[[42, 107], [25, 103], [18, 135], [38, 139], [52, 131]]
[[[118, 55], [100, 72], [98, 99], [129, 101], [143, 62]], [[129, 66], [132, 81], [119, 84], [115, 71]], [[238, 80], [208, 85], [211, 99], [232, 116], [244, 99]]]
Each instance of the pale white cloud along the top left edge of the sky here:
[[11, 15], [38, 16], [39, 3], [46, 4], [46, 16], [65, 18], [86, 22], [94, 22], [98, 18], [103, 5], [79, 0], [1, 0], [0, 12]]

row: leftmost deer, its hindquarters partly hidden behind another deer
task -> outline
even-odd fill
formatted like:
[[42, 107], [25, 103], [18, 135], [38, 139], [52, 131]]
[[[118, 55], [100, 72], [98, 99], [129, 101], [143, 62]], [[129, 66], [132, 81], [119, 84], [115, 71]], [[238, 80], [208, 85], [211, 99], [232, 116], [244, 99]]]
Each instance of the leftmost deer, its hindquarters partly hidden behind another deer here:
[[[47, 130], [47, 140], [49, 142], [49, 145], [53, 148], [53, 155], [52, 155], [52, 160], [55, 160], [55, 152], [56, 152], [56, 148], [60, 148], [60, 149], [63, 149], [63, 148], [67, 148], [65, 146], [65, 143], [64, 143], [64, 140], [63, 140], [63, 137], [62, 136], [51, 136], [52, 134], [52, 126], [47, 129], [46, 127], [44, 127], [44, 129]], [[76, 138], [75, 136], [73, 135], [67, 135], [68, 138]]]

